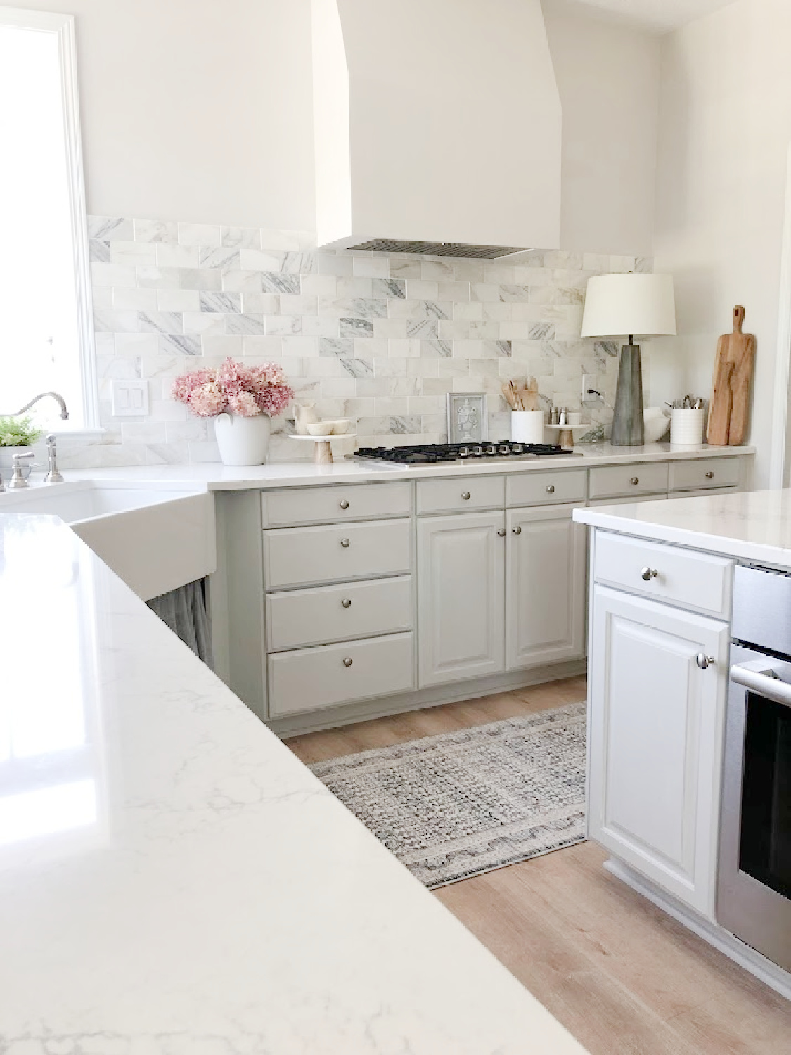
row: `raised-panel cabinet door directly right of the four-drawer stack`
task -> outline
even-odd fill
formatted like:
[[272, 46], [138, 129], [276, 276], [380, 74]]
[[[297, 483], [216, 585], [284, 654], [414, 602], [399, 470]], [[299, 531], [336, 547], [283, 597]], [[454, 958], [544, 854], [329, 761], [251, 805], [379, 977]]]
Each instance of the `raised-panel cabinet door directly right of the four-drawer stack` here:
[[505, 514], [418, 522], [421, 687], [503, 669]]

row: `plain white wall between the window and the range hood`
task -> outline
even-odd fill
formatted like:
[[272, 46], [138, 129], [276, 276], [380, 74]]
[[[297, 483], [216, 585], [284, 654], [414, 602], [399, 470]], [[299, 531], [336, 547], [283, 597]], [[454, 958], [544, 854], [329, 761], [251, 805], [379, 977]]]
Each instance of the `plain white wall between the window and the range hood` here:
[[312, 230], [308, 0], [14, 0], [76, 17], [88, 210]]

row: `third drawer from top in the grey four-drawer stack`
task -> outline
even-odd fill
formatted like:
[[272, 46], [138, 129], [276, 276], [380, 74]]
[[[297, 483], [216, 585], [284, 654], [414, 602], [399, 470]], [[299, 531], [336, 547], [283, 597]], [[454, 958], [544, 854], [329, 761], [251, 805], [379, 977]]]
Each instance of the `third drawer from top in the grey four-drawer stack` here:
[[412, 628], [412, 579], [344, 582], [267, 595], [270, 652]]

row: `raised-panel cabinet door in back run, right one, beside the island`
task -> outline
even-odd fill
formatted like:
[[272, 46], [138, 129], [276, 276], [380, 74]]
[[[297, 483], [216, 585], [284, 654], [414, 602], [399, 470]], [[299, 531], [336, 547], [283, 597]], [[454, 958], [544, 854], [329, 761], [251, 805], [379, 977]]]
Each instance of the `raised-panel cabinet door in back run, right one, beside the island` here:
[[508, 670], [584, 655], [585, 530], [572, 505], [510, 510], [505, 565]]

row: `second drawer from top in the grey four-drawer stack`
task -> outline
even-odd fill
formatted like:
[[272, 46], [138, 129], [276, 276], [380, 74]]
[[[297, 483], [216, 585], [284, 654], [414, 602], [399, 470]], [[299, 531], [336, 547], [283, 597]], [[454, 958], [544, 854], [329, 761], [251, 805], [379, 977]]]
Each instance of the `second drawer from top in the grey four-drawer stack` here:
[[382, 520], [264, 532], [267, 590], [411, 571], [410, 520]]

